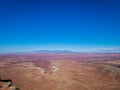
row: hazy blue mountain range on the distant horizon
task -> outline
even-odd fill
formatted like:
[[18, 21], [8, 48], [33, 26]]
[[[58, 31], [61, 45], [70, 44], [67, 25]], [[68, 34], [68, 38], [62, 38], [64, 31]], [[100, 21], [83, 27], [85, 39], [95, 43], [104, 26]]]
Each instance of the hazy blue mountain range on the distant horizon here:
[[74, 51], [70, 51], [70, 50], [36, 50], [35, 52], [41, 52], [41, 53], [73, 53]]

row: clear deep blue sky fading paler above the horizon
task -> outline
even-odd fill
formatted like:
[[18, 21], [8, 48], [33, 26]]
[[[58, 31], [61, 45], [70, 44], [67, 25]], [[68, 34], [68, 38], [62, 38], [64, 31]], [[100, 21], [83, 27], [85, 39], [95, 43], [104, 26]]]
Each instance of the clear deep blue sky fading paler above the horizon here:
[[0, 52], [119, 47], [119, 0], [0, 0]]

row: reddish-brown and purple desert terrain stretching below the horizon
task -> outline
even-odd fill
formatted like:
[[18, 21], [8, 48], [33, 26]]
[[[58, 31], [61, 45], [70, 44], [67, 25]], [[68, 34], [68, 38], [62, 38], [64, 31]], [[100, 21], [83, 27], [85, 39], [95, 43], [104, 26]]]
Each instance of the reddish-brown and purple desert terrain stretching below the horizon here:
[[[0, 56], [0, 90], [120, 90], [120, 54], [9, 54]], [[6, 83], [5, 83], [6, 84]]]

